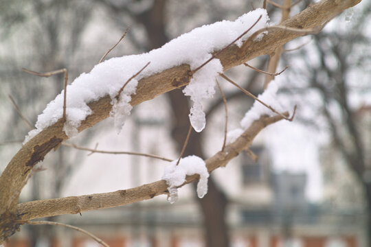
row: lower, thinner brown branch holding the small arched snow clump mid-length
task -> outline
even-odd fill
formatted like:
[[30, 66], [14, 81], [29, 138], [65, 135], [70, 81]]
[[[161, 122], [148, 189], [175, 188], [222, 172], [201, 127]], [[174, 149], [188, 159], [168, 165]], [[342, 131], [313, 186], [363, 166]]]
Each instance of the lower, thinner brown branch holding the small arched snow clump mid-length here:
[[[217, 152], [211, 158], [207, 158], [205, 161], [207, 170], [212, 172], [218, 167], [225, 167], [232, 158], [236, 157], [240, 152], [251, 145], [251, 142], [260, 130], [281, 119], [282, 117], [280, 116], [263, 116], [260, 117], [258, 121], [254, 121], [250, 128], [241, 134], [234, 143], [226, 145], [224, 151]], [[186, 183], [183, 185], [198, 179], [198, 175], [187, 176]], [[168, 185], [166, 182], [164, 180], [159, 180], [155, 183], [141, 185], [132, 189], [124, 189], [109, 193], [96, 193], [86, 196], [69, 196], [67, 198], [25, 202], [16, 206], [16, 214], [19, 217], [19, 221], [27, 221], [40, 217], [67, 213], [75, 214], [95, 209], [119, 207], [166, 194], [168, 193], [167, 189]]]

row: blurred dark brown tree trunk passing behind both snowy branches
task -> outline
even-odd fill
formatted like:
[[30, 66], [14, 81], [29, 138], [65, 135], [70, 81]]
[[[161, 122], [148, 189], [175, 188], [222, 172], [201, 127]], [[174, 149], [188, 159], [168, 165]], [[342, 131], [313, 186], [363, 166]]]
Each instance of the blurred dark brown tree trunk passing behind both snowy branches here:
[[[166, 0], [156, 0], [152, 8], [137, 16], [137, 20], [142, 23], [146, 29], [149, 49], [159, 48], [168, 42], [168, 36], [165, 32], [165, 6]], [[170, 105], [174, 114], [172, 138], [177, 143], [177, 148], [180, 152], [190, 126], [190, 120], [188, 118], [190, 104], [187, 97], [183, 95], [180, 89], [170, 91], [168, 93], [168, 99], [170, 100]], [[201, 158], [205, 158], [203, 155], [201, 138], [202, 134], [192, 130], [183, 156], [194, 154]], [[229, 246], [227, 224], [225, 223], [227, 198], [224, 193], [216, 187], [212, 178], [209, 178], [208, 186], [209, 190], [206, 196], [203, 199], [197, 200], [203, 212], [207, 246], [227, 247]]]

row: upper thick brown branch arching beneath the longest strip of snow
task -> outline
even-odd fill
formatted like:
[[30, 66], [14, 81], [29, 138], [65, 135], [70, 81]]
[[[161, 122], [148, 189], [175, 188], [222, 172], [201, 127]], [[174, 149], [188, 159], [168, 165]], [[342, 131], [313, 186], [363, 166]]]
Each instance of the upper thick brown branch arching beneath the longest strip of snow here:
[[[316, 27], [360, 1], [322, 0], [306, 8], [306, 10], [293, 16], [291, 19], [284, 21], [281, 25], [303, 29]], [[257, 56], [271, 54], [277, 47], [301, 35], [284, 30], [273, 30], [265, 35], [262, 40], [253, 40], [249, 43], [247, 49], [243, 51], [240, 51], [236, 45], [232, 45], [217, 57], [221, 60], [224, 70], [227, 70]], [[166, 69], [148, 78], [143, 78], [139, 81], [136, 95], [133, 95], [131, 104], [135, 106], [146, 100], [153, 99], [157, 95], [188, 84], [190, 82], [189, 72], [190, 66], [183, 64], [179, 67]], [[82, 121], [78, 130], [85, 130], [109, 117], [110, 102], [111, 99], [108, 95], [97, 102], [91, 102], [89, 107], [93, 110], [93, 114], [87, 117], [85, 121]], [[22, 185], [32, 167], [39, 161], [43, 161], [44, 156], [50, 150], [60, 145], [62, 141], [67, 140], [65, 132], [63, 132], [63, 124], [63, 119], [60, 119], [53, 126], [49, 126], [49, 128], [37, 134], [36, 137], [23, 145], [5, 168], [0, 177], [0, 216], [5, 212], [14, 212]]]

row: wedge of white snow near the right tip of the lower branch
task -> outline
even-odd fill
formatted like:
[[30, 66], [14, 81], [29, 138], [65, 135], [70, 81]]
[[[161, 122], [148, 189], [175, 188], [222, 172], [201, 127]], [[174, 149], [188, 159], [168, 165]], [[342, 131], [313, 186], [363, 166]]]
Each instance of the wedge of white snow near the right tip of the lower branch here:
[[[258, 96], [258, 99], [260, 99], [268, 106], [271, 106], [279, 113], [282, 113], [284, 110], [280, 102], [278, 102], [278, 98], [276, 95], [278, 88], [280, 86], [278, 83], [279, 82], [275, 80], [271, 81], [267, 89]], [[247, 128], [249, 128], [254, 121], [260, 119], [262, 115], [268, 115], [271, 117], [276, 114], [277, 113], [273, 113], [271, 109], [262, 105], [260, 102], [255, 101], [253, 106], [251, 106], [250, 110], [247, 111], [247, 113], [245, 114], [245, 117], [243, 117], [243, 119], [241, 120], [240, 125], [244, 130], [247, 130]]]

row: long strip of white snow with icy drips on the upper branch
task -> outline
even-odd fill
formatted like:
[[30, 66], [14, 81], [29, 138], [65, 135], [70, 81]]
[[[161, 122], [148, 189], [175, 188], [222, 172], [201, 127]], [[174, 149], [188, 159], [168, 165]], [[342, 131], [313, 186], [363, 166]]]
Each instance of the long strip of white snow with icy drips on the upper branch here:
[[[243, 40], [246, 40], [249, 35], [267, 25], [269, 17], [265, 10], [254, 10], [240, 16], [236, 21], [220, 21], [212, 25], [198, 27], [146, 54], [111, 58], [96, 64], [89, 73], [82, 73], [67, 87], [67, 123], [64, 128], [66, 134], [69, 137], [76, 135], [78, 132], [76, 128], [80, 126], [81, 121], [92, 113], [87, 104], [106, 95], [113, 99], [113, 104], [118, 104], [111, 113], [116, 117], [115, 128], [118, 132], [124, 124], [125, 116], [130, 113], [131, 107], [128, 106], [128, 102], [130, 102], [131, 95], [135, 93], [137, 81], [181, 64], [190, 64], [192, 70], [196, 69], [207, 58], [210, 58], [213, 51], [223, 49], [251, 27], [260, 15], [262, 18], [254, 28], [236, 42], [236, 45], [242, 45]], [[130, 89], [124, 92], [124, 95], [120, 95], [119, 102], [116, 102], [115, 97], [120, 88], [147, 62], [150, 62], [148, 67], [137, 75], [136, 80], [132, 80], [127, 85]], [[212, 60], [194, 74], [192, 81], [184, 89], [184, 93], [194, 101], [190, 120], [197, 131], [201, 131], [205, 126], [201, 101], [214, 95], [214, 78], [221, 70], [220, 62], [216, 59]], [[44, 128], [55, 124], [62, 115], [63, 91], [57, 95], [56, 99], [49, 102], [41, 115], [38, 115], [36, 130], [29, 132], [25, 142]]]

